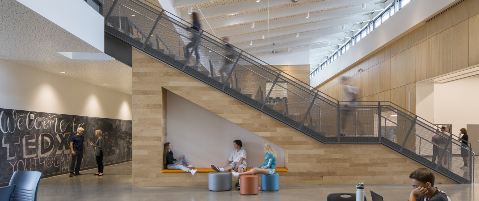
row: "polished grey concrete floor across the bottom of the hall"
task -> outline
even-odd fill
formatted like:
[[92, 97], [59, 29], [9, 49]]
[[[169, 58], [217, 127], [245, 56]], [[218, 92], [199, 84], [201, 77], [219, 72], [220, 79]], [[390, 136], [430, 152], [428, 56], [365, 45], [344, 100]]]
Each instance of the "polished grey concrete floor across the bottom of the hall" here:
[[[478, 164], [478, 162], [476, 162]], [[333, 192], [355, 192], [354, 185], [280, 186], [279, 191], [260, 191], [258, 195], [240, 195], [239, 190], [209, 191], [208, 187], [132, 187], [131, 162], [107, 166], [105, 176], [92, 174], [96, 169], [81, 171], [83, 175], [60, 175], [42, 179], [38, 188], [38, 201], [326, 201]], [[478, 169], [476, 169], [476, 183]], [[479, 201], [479, 186], [475, 184], [437, 184], [452, 201]], [[385, 201], [407, 201], [411, 186], [368, 185], [366, 198], [371, 201], [369, 190], [382, 195]]]

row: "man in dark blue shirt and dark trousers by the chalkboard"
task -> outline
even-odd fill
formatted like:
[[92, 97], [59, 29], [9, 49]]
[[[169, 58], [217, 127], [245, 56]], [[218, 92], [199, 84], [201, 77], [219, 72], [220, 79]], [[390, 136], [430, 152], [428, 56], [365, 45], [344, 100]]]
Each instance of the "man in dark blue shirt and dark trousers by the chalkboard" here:
[[[81, 166], [81, 159], [83, 159], [83, 155], [87, 154], [87, 150], [85, 149], [85, 138], [82, 136], [85, 129], [82, 127], [77, 128], [77, 135], [74, 135], [70, 139], [70, 149], [71, 149], [71, 165], [70, 165], [70, 177], [73, 175], [81, 175], [80, 174], [80, 166]], [[75, 161], [77, 165], [75, 166]], [[75, 172], [73, 170], [75, 169]]]

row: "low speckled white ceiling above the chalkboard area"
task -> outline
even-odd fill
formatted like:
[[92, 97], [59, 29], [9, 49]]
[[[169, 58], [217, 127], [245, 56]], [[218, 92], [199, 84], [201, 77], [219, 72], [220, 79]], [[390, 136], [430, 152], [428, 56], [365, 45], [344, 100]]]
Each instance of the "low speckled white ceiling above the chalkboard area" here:
[[72, 60], [57, 53], [101, 51], [18, 1], [1, 0], [0, 19], [0, 60], [132, 94], [131, 67], [115, 60]]

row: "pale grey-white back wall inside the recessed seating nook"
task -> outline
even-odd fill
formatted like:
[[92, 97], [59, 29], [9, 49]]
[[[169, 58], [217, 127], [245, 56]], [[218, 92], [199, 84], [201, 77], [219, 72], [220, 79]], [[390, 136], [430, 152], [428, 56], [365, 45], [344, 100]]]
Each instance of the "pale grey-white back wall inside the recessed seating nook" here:
[[[196, 167], [209, 168], [211, 164], [226, 166], [233, 148], [233, 140], [243, 142], [247, 167], [264, 162], [263, 143], [267, 140], [198, 106], [170, 91], [167, 93], [166, 140], [173, 144], [174, 157], [184, 154]], [[284, 149], [276, 145], [276, 167], [284, 167]]]

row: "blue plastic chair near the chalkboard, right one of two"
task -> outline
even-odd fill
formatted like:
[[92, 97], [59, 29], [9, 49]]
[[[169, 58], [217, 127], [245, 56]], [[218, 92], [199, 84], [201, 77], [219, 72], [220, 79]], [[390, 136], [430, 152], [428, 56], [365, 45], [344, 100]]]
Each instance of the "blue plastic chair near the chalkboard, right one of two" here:
[[9, 185], [17, 185], [12, 201], [36, 201], [38, 184], [42, 173], [37, 171], [15, 171]]

